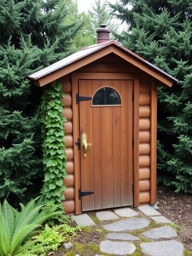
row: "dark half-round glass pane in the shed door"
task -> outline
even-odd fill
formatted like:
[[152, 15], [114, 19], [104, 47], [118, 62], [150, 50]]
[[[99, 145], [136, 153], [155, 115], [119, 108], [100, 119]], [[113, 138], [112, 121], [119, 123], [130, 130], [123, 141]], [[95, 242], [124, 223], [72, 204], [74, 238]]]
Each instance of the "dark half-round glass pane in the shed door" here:
[[120, 105], [118, 93], [112, 88], [105, 87], [97, 91], [93, 97], [92, 105]]

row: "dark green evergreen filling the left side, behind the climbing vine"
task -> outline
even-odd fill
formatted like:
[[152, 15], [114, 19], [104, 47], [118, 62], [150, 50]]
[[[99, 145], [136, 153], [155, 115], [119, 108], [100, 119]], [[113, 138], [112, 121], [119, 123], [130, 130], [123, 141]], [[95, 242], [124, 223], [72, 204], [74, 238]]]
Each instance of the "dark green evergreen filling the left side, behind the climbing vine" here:
[[[58, 0], [0, 0], [1, 199], [26, 199], [26, 187], [43, 176], [34, 110], [40, 97], [31, 96], [26, 77], [70, 53], [82, 24], [66, 24], [66, 17]], [[36, 185], [33, 191], [40, 189]]]

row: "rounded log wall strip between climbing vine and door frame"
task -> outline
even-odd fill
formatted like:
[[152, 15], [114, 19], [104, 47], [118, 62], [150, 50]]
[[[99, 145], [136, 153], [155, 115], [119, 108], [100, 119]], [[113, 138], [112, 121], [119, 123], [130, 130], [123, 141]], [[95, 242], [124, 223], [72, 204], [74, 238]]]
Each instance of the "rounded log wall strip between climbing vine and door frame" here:
[[62, 92], [65, 97], [62, 102], [65, 107], [63, 108], [63, 116], [66, 117], [67, 122], [64, 122], [65, 132], [65, 153], [67, 155], [66, 172], [68, 177], [63, 180], [63, 184], [67, 187], [63, 192], [65, 201], [62, 201], [64, 212], [67, 215], [72, 215], [75, 212], [75, 192], [74, 192], [74, 155], [73, 155], [73, 116], [72, 116], [72, 87], [70, 76], [64, 76], [59, 79], [62, 84]]

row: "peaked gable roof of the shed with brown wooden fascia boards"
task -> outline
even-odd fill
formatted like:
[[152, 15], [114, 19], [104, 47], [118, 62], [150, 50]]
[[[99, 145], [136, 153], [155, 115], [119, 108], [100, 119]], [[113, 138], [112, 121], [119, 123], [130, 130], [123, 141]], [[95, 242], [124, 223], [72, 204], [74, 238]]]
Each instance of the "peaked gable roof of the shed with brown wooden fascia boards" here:
[[[102, 49], [106, 49], [103, 50]], [[108, 49], [108, 50], [107, 50]], [[102, 52], [103, 54], [98, 54], [99, 52]], [[73, 72], [74, 70], [87, 65], [88, 63], [99, 59], [100, 57], [103, 57], [111, 52], [114, 52], [115, 54], [119, 55], [120, 57], [123, 57], [125, 60], [132, 63], [134, 66], [137, 66], [140, 63], [140, 69], [148, 73], [149, 75], [157, 78], [161, 82], [163, 82], [165, 85], [171, 87], [173, 82], [178, 82], [177, 79], [170, 76], [163, 70], [155, 67], [153, 64], [148, 62], [147, 60], [141, 58], [134, 52], [128, 50], [127, 48], [123, 47], [120, 43], [116, 42], [115, 40], [106, 41], [104, 43], [100, 44], [94, 44], [88, 47], [84, 47], [81, 50], [69, 55], [66, 58], [63, 58], [52, 65], [43, 68], [31, 75], [28, 76], [29, 79], [33, 80], [32, 83], [34, 83], [36, 80], [38, 80], [39, 83], [34, 83], [39, 86], [43, 86], [45, 84], [48, 84], [56, 79], [58, 79], [61, 76], [67, 75], [70, 72]], [[97, 53], [96, 55], [94, 53]], [[124, 54], [123, 54], [124, 53]], [[125, 55], [126, 53], [126, 55]], [[88, 56], [95, 55], [95, 58], [91, 58], [88, 60]], [[72, 67], [73, 63], [77, 63], [79, 60], [86, 59], [87, 61], [84, 61], [82, 65], [77, 65]], [[143, 65], [142, 65], [143, 64]], [[69, 69], [64, 70], [65, 67], [71, 67]], [[144, 68], [146, 66], [146, 68]], [[138, 67], [138, 66], [137, 66]], [[61, 71], [61, 72], [58, 72]], [[156, 74], [159, 74], [159, 76], [156, 76]], [[162, 77], [162, 79], [161, 79]], [[164, 79], [163, 79], [164, 78]], [[166, 82], [167, 81], [167, 82]]]

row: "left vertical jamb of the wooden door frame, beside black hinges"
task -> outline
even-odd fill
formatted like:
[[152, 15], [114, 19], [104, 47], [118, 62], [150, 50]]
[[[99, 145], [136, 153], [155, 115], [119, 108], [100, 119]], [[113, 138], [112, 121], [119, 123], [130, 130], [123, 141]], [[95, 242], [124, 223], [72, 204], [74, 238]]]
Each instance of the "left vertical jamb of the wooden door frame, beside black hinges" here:
[[79, 137], [79, 107], [76, 104], [76, 93], [78, 92], [78, 80], [72, 79], [72, 111], [73, 116], [73, 149], [74, 149], [74, 185], [75, 185], [75, 214], [81, 214], [81, 201], [78, 189], [81, 188], [80, 151], [75, 145]]

